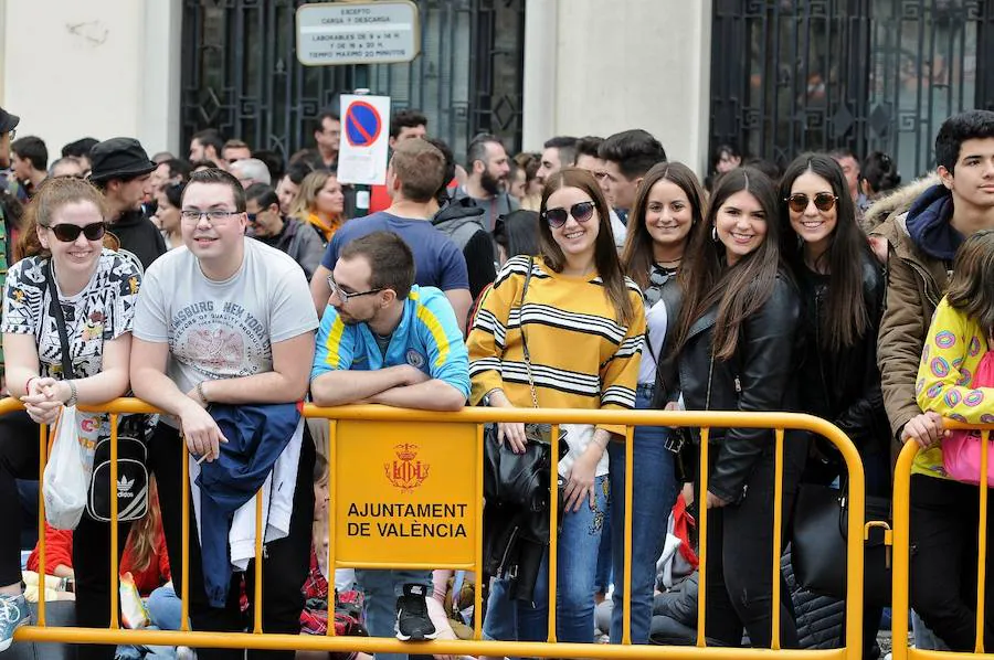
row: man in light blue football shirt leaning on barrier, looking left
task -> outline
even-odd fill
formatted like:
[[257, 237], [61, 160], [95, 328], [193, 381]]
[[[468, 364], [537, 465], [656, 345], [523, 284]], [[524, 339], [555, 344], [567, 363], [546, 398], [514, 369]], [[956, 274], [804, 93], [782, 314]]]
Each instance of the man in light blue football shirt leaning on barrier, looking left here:
[[[346, 244], [328, 276], [311, 395], [321, 406], [381, 403], [458, 411], [469, 395], [469, 356], [445, 295], [414, 284], [414, 256], [393, 232]], [[434, 639], [429, 571], [356, 571], [373, 637]], [[379, 660], [403, 654], [378, 653]]]

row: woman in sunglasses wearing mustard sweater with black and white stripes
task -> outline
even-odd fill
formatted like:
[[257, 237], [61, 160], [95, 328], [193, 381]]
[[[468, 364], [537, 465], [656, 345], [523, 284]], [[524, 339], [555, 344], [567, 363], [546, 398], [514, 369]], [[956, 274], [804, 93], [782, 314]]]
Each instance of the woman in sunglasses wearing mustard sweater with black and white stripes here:
[[[510, 258], [480, 304], [467, 341], [472, 402], [632, 408], [645, 312], [638, 288], [622, 272], [598, 182], [575, 168], [549, 177], [540, 219], [541, 254]], [[564, 424], [562, 430], [569, 453], [559, 462], [565, 487], [557, 635], [560, 641], [592, 642], [598, 549], [609, 499], [605, 449], [612, 436], [624, 437], [625, 428]], [[524, 451], [525, 425], [499, 424], [498, 441]], [[486, 635], [544, 640], [548, 589], [548, 553], [530, 603], [512, 598], [508, 579], [496, 579]]]

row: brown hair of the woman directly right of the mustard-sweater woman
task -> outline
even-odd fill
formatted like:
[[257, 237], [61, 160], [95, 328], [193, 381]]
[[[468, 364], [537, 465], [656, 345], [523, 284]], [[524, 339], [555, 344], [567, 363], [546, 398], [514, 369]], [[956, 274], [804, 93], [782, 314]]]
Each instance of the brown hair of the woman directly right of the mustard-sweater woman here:
[[[628, 214], [628, 235], [625, 237], [625, 247], [622, 249], [622, 264], [625, 275], [631, 277], [639, 288], [648, 286], [649, 272], [655, 260], [653, 256], [653, 237], [645, 227], [645, 211], [648, 206], [649, 193], [659, 181], [670, 181], [679, 187], [690, 202], [691, 232], [692, 227], [704, 222], [707, 213], [705, 192], [694, 170], [681, 162], [660, 162], [645, 173], [638, 190], [635, 192], [635, 203]], [[690, 234], [687, 234], [687, 241]]]

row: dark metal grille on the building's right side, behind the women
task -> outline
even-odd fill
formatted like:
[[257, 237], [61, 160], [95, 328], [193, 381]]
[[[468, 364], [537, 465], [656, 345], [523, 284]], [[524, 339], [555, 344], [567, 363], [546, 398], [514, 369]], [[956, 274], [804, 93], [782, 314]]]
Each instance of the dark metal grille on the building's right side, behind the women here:
[[948, 116], [994, 108], [994, 0], [713, 2], [712, 150], [881, 150], [907, 180]]

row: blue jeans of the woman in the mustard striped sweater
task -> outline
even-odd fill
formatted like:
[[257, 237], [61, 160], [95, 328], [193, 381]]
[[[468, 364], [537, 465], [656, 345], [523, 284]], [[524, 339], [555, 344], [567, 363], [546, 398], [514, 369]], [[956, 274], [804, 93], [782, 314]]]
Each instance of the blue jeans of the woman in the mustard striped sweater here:
[[[559, 532], [556, 637], [593, 643], [594, 582], [598, 549], [607, 509], [607, 476], [594, 480], [595, 502], [562, 514]], [[542, 558], [531, 605], [508, 597], [508, 582], [497, 578], [487, 599], [484, 635], [505, 641], [544, 641], [549, 632], [549, 554]]]

